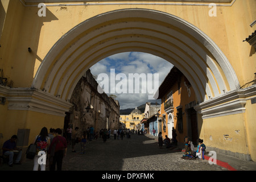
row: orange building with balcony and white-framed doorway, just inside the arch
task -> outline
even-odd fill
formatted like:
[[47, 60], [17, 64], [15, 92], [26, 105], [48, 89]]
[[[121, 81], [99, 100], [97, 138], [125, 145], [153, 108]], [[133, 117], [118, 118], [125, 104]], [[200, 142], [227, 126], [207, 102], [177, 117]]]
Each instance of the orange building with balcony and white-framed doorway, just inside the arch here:
[[194, 144], [199, 138], [201, 123], [197, 119], [195, 92], [188, 79], [173, 67], [159, 86], [159, 99], [161, 99], [160, 122], [162, 122], [162, 135], [172, 138], [172, 127], [176, 130], [177, 141], [184, 142], [189, 137]]

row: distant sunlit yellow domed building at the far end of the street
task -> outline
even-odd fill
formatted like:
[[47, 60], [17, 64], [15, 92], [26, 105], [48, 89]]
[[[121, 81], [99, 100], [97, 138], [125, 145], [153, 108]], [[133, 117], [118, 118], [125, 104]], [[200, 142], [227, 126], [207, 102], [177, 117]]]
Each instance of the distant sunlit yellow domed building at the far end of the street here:
[[142, 111], [137, 107], [129, 115], [120, 115], [120, 122], [125, 124], [126, 129], [138, 130], [138, 124], [143, 119]]

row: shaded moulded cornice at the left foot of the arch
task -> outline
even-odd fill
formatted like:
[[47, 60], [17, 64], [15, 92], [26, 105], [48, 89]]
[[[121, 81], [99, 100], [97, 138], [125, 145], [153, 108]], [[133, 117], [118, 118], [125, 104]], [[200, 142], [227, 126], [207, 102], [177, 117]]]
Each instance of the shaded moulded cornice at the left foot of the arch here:
[[34, 88], [7, 88], [0, 86], [9, 110], [30, 110], [65, 117], [72, 104]]

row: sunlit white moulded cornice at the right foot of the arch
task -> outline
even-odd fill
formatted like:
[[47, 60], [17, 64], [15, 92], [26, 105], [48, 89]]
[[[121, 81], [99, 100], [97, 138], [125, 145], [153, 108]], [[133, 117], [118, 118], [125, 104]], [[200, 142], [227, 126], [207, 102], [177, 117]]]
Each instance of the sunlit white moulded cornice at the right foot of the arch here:
[[256, 96], [256, 85], [237, 89], [194, 106], [203, 119], [245, 113], [246, 101]]

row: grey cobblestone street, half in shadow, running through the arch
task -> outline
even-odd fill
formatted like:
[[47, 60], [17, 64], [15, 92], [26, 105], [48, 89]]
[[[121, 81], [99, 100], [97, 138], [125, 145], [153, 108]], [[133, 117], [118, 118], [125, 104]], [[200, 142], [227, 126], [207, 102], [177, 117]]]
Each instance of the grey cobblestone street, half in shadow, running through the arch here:
[[[68, 146], [63, 171], [228, 171], [225, 167], [210, 165], [207, 160], [181, 159], [183, 148], [184, 144], [160, 149], [151, 135], [134, 134], [123, 140], [114, 140], [112, 136], [106, 143], [98, 138], [86, 144], [85, 154], [81, 154], [80, 143], [76, 144], [77, 152], [71, 152]], [[230, 163], [243, 171], [256, 169], [254, 162], [232, 158]], [[13, 167], [1, 164], [0, 171], [32, 171], [32, 168], [32, 160], [26, 160]]]

